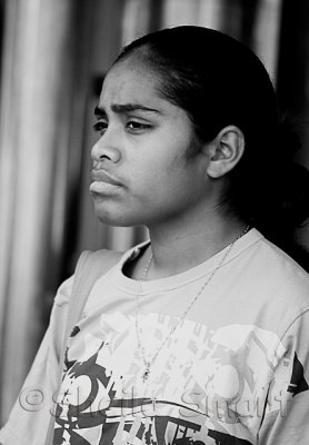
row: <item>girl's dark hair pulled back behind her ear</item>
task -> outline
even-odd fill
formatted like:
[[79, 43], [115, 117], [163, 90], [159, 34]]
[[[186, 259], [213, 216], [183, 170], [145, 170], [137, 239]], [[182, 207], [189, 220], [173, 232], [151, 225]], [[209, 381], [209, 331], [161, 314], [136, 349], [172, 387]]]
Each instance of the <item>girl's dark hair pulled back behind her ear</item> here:
[[203, 141], [228, 125], [242, 130], [246, 149], [228, 175], [225, 208], [282, 246], [308, 217], [309, 174], [292, 160], [299, 140], [279, 119], [260, 59], [229, 36], [191, 26], [143, 36], [116, 63], [128, 57], [153, 71], [159, 93], [187, 111]]

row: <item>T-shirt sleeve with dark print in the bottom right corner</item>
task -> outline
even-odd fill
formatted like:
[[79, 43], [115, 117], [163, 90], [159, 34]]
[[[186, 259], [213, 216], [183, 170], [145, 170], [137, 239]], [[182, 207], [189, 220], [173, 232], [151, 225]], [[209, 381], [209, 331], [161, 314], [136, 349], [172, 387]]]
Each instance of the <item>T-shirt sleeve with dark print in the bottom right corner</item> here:
[[277, 354], [259, 445], [308, 445], [309, 309], [288, 328]]

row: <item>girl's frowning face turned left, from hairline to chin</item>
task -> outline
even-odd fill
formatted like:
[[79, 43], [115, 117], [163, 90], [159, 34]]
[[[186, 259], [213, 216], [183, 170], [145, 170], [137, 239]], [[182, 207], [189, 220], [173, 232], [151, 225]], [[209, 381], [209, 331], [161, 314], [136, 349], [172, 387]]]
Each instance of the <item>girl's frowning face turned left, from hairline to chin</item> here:
[[[130, 61], [107, 75], [96, 109], [90, 191], [114, 226], [162, 224], [207, 197], [205, 156], [181, 108], [156, 91], [156, 76]], [[188, 151], [197, 152], [188, 157]]]

